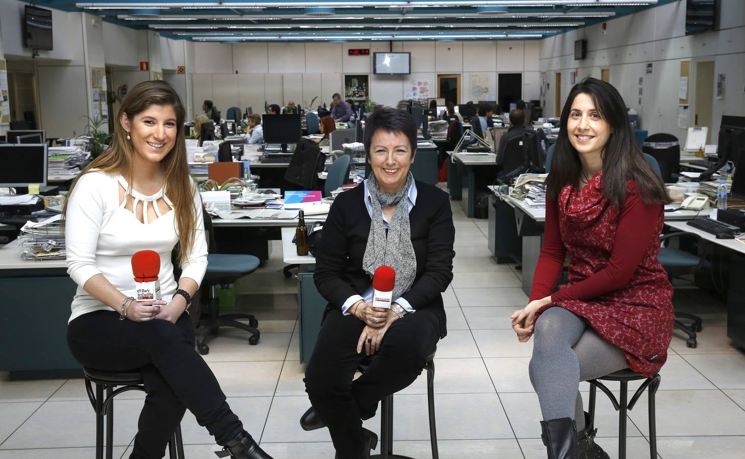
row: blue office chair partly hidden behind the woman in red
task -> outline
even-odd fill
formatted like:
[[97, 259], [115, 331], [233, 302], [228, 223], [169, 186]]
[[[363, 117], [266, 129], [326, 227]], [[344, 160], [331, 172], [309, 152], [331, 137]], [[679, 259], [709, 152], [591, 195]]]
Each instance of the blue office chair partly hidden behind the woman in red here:
[[[650, 163], [652, 168], [660, 174], [659, 164], [654, 156], [644, 153], [644, 159]], [[708, 267], [706, 256], [703, 253], [694, 255], [693, 253], [680, 250], [675, 247], [668, 247], [671, 238], [688, 237], [694, 238], [697, 247], [703, 247], [702, 239], [699, 235], [692, 232], [675, 231], [669, 232], [668, 234], [661, 235], [659, 241], [662, 243], [662, 247], [659, 249], [657, 254], [657, 260], [659, 261], [662, 268], [668, 272], [668, 278], [682, 276], [683, 274], [696, 273], [702, 268]], [[682, 323], [680, 319], [693, 320], [690, 326]], [[688, 347], [695, 348], [697, 346], [696, 333], [701, 331], [701, 317], [694, 314], [688, 314], [685, 312], [675, 313], [675, 328], [682, 330], [688, 335], [688, 340], [685, 341], [685, 345]]]

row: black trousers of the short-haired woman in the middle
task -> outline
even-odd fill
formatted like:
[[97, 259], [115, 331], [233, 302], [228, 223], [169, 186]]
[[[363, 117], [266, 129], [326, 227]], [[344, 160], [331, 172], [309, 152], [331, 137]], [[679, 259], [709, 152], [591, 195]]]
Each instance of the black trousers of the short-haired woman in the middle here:
[[378, 402], [411, 384], [440, 339], [440, 320], [426, 309], [406, 314], [391, 324], [380, 351], [364, 375], [352, 378], [364, 350], [357, 342], [365, 324], [338, 309], [326, 313], [311, 361], [305, 370], [305, 391], [329, 427], [339, 459], [358, 459], [362, 422], [375, 416]]

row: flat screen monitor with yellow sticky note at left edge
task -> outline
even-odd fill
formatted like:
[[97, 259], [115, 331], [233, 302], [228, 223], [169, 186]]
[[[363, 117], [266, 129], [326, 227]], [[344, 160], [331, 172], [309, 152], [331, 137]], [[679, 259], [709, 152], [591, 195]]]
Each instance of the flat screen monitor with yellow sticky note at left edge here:
[[0, 187], [46, 186], [46, 145], [0, 144]]

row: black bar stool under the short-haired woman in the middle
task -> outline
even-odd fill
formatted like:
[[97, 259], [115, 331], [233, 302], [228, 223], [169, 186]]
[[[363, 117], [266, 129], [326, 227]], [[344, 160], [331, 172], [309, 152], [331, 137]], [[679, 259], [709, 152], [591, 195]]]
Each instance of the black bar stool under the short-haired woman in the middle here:
[[[434, 418], [434, 353], [427, 357], [424, 369], [427, 370], [427, 408], [429, 410], [429, 441], [432, 448], [432, 459], [440, 459], [437, 451], [437, 426]], [[363, 361], [358, 367], [360, 373], [365, 373], [370, 360]], [[380, 411], [380, 452], [379, 455], [371, 455], [370, 459], [413, 459], [408, 456], [393, 454], [393, 394], [381, 401]]]

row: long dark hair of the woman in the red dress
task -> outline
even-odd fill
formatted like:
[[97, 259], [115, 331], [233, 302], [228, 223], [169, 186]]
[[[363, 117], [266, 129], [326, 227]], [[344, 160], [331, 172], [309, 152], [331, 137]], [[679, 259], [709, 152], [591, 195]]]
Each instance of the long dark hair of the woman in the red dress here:
[[582, 163], [577, 150], [569, 142], [571, 133], [567, 130], [571, 104], [578, 94], [589, 95], [595, 104], [595, 110], [611, 129], [608, 142], [600, 153], [603, 158], [603, 194], [614, 206], [620, 208], [626, 200], [627, 183], [634, 180], [644, 203], [670, 203], [662, 177], [650, 166], [636, 143], [624, 99], [613, 86], [597, 78], [585, 78], [575, 84], [566, 99], [561, 113], [559, 137], [554, 147], [551, 174], [546, 179], [548, 198], [557, 201], [562, 188], [580, 181]]

